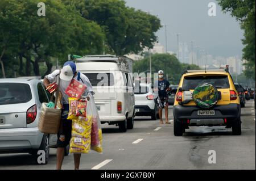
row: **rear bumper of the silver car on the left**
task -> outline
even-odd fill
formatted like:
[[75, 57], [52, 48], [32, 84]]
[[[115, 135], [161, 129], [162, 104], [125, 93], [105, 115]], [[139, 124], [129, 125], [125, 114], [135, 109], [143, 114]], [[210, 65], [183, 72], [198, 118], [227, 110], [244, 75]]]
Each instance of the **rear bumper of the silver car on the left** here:
[[42, 138], [38, 128], [0, 129], [0, 153], [38, 149]]

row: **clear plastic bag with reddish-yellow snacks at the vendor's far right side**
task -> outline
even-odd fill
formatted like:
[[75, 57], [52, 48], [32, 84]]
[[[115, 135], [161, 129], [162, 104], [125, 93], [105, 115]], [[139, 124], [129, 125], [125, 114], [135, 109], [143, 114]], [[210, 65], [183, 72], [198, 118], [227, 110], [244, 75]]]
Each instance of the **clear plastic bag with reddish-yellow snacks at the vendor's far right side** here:
[[89, 95], [90, 100], [87, 103], [86, 113], [88, 116], [92, 116], [92, 133], [90, 149], [102, 153], [102, 131], [101, 121], [98, 115], [97, 107], [94, 102], [93, 96]]

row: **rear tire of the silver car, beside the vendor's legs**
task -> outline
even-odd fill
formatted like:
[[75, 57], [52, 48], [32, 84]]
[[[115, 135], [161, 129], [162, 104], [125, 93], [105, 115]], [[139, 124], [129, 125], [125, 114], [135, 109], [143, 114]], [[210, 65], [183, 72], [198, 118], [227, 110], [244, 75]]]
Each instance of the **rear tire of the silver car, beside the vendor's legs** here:
[[[46, 161], [45, 163], [38, 163], [38, 157], [39, 157], [38, 151], [39, 150], [44, 150], [44, 153], [45, 153], [44, 154], [45, 155], [44, 160]], [[36, 163], [38, 163], [38, 164], [45, 165], [45, 164], [48, 163], [48, 161], [49, 161], [49, 136], [48, 136], [48, 134], [44, 134], [39, 149], [33, 150], [32, 151], [32, 156], [34, 157]]]

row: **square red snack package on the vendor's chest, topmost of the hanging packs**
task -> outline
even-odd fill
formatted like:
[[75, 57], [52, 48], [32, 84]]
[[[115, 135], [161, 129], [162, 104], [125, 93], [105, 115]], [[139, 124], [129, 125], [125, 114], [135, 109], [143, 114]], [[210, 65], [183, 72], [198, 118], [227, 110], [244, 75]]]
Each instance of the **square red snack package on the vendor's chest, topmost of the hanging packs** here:
[[65, 90], [65, 94], [67, 94], [71, 98], [79, 99], [86, 88], [87, 87], [84, 84], [76, 81], [75, 79], [72, 79], [71, 83], [69, 83], [69, 86]]

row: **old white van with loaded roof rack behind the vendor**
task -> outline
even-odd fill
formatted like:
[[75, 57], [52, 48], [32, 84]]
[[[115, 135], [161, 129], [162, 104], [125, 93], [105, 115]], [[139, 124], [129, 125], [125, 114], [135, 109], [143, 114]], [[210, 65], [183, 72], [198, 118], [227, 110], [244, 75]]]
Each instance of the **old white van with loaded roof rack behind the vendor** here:
[[119, 131], [133, 129], [135, 99], [133, 60], [127, 57], [99, 55], [76, 58], [77, 71], [92, 83], [101, 123], [118, 125]]

